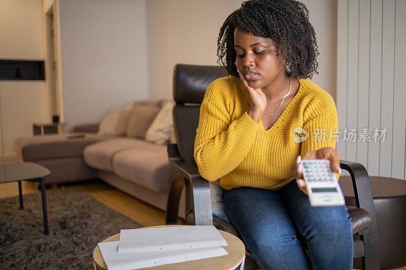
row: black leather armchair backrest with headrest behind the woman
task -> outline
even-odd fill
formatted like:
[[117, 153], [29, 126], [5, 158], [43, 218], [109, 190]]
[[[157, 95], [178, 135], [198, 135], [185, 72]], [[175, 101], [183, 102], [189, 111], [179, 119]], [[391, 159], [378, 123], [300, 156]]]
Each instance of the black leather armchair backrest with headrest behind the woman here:
[[199, 124], [200, 104], [209, 85], [227, 75], [220, 66], [177, 64], [174, 69], [173, 110], [175, 137], [181, 157], [196, 166], [194, 140]]

